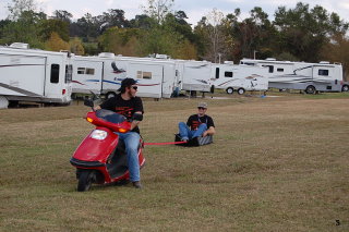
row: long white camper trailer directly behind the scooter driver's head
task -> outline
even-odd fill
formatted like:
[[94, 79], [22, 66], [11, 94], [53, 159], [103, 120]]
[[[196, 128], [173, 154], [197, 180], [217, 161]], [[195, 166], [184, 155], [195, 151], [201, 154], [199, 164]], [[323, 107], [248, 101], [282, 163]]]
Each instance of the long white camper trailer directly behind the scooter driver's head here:
[[116, 96], [121, 81], [137, 81], [137, 96], [169, 98], [173, 93], [174, 62], [154, 58], [135, 58], [100, 53], [98, 57], [73, 58], [73, 93]]

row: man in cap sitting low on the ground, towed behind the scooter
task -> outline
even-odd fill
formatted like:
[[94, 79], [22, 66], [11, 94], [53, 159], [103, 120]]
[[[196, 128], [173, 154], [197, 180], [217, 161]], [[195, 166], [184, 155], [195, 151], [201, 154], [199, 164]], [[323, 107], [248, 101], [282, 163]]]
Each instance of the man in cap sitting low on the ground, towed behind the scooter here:
[[186, 124], [180, 122], [178, 124], [179, 134], [182, 142], [188, 142], [194, 137], [213, 135], [216, 133], [214, 120], [206, 114], [207, 103], [200, 102], [197, 106], [197, 114], [189, 117]]

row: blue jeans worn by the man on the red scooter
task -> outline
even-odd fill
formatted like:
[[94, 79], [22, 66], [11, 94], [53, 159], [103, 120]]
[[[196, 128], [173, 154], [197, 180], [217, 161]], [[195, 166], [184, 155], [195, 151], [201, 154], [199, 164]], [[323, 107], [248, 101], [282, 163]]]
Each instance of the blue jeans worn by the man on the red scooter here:
[[135, 182], [141, 180], [140, 161], [139, 161], [139, 146], [140, 134], [136, 132], [117, 133], [119, 139], [124, 142], [128, 155], [128, 164], [130, 172], [130, 181]]

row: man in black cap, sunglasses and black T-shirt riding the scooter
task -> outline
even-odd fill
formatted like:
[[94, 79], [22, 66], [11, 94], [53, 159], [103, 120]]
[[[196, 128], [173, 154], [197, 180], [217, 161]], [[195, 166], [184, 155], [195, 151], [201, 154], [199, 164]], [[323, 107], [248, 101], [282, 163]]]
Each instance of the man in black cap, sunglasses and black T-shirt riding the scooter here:
[[130, 132], [118, 133], [118, 135], [125, 145], [130, 181], [134, 187], [142, 188], [137, 149], [141, 138], [139, 124], [143, 120], [144, 111], [142, 99], [135, 96], [137, 87], [133, 78], [124, 78], [121, 82], [120, 94], [107, 99], [94, 109], [111, 110], [124, 115], [128, 120], [132, 120]]

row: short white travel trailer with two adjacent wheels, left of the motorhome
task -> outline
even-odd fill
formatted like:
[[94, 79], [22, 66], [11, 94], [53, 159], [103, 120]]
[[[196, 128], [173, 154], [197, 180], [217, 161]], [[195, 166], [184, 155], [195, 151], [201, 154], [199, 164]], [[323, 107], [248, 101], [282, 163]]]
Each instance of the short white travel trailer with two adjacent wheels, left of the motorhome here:
[[239, 95], [246, 90], [268, 89], [268, 69], [244, 64], [233, 64], [226, 61], [224, 64], [212, 65], [210, 85], [226, 89], [227, 94], [237, 91]]

